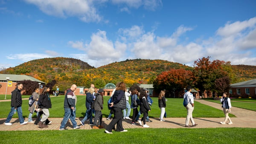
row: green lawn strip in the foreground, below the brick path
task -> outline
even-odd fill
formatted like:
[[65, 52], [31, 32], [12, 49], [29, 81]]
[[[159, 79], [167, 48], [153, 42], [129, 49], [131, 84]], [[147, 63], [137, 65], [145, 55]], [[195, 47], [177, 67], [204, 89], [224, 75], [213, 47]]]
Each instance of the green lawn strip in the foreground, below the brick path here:
[[0, 131], [1, 144], [255, 144], [254, 128]]

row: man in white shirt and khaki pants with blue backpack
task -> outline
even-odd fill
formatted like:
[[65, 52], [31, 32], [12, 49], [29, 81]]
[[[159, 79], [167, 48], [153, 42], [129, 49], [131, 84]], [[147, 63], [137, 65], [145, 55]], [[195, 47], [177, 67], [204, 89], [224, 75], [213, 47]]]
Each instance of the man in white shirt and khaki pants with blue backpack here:
[[192, 126], [195, 127], [198, 124], [195, 124], [195, 121], [194, 121], [193, 116], [192, 116], [192, 113], [193, 113], [193, 110], [194, 110], [194, 97], [191, 93], [192, 87], [187, 86], [186, 90], [187, 90], [187, 92], [183, 95], [183, 99], [187, 98], [187, 101], [188, 101], [188, 105], [186, 105], [187, 116], [186, 116], [185, 127], [191, 127], [191, 126], [189, 126], [189, 120], [191, 121]]

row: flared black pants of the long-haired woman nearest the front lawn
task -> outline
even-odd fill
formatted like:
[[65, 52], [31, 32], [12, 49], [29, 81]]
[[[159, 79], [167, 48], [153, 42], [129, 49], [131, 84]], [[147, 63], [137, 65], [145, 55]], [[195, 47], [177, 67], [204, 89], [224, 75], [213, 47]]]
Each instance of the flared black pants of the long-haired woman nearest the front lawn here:
[[108, 130], [109, 132], [112, 132], [113, 128], [116, 125], [117, 132], [123, 131], [124, 128], [122, 127], [122, 118], [123, 118], [122, 109], [118, 107], [112, 107], [112, 109], [114, 111], [114, 118], [108, 124], [108, 127], [106, 127], [106, 130]]

